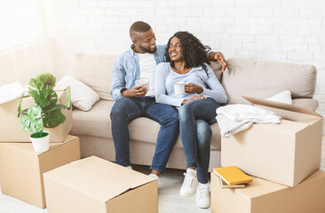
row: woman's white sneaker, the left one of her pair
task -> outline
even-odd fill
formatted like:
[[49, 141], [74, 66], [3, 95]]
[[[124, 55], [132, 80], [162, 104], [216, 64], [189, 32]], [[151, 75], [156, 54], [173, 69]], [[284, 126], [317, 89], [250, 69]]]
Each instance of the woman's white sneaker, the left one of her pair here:
[[184, 173], [184, 182], [182, 187], [180, 188], [180, 196], [181, 197], [190, 197], [192, 196], [198, 185], [196, 170], [187, 169], [186, 173]]

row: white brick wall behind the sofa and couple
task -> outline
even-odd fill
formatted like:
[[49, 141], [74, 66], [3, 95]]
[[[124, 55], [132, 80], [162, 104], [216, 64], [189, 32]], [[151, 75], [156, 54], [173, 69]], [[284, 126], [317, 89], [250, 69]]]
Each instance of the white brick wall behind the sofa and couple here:
[[129, 28], [147, 21], [157, 43], [188, 30], [226, 58], [239, 56], [313, 64], [315, 99], [325, 116], [325, 2], [323, 0], [43, 0], [46, 27], [56, 41], [58, 78], [74, 52], [119, 54]]

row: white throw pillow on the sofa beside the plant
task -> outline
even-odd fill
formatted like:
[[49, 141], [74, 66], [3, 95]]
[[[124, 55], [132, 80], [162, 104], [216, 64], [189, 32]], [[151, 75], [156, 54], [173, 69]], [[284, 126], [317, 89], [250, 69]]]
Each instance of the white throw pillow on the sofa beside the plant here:
[[70, 86], [72, 105], [83, 111], [91, 110], [91, 107], [99, 101], [99, 95], [95, 91], [69, 75], [64, 76], [57, 83], [60, 84]]

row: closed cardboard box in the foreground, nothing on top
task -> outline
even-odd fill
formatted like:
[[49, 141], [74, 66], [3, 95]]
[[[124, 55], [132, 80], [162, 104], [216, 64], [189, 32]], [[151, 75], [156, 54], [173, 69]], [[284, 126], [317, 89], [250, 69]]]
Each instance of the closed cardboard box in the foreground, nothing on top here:
[[157, 180], [95, 156], [44, 173], [48, 213], [155, 213]]

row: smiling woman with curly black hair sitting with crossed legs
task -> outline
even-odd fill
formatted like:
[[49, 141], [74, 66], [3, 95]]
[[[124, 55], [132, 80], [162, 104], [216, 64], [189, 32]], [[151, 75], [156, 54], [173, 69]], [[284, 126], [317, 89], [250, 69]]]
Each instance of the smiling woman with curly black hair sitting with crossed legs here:
[[[168, 62], [160, 63], [155, 70], [155, 99], [178, 108], [187, 164], [180, 196], [192, 196], [197, 191], [197, 205], [209, 208], [210, 124], [217, 122], [216, 109], [218, 103], [226, 103], [226, 91], [207, 65], [205, 47], [192, 34], [177, 32], [170, 37], [166, 59]], [[186, 83], [181, 95], [174, 91], [174, 83], [179, 81]]]

